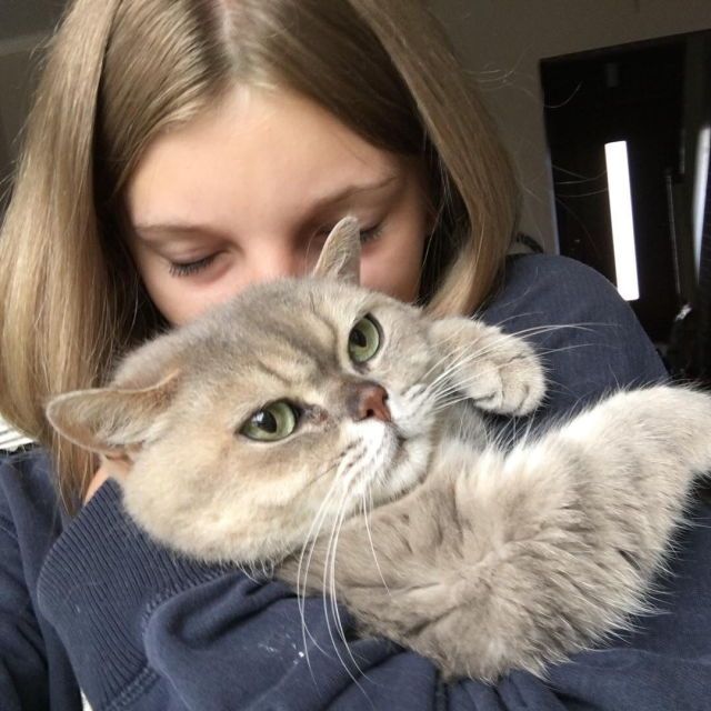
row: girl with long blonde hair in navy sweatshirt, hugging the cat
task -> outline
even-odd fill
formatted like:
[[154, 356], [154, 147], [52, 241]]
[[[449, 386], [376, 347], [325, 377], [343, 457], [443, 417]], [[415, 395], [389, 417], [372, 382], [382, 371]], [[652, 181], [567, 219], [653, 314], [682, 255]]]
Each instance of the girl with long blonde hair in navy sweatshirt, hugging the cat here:
[[307, 665], [288, 589], [148, 540], [44, 420], [51, 394], [106, 381], [152, 333], [308, 271], [347, 213], [368, 287], [511, 331], [588, 324], [535, 337], [541, 417], [663, 378], [603, 279], [507, 259], [517, 212], [491, 123], [415, 0], [77, 0], [0, 240], [0, 411], [42, 444], [0, 477], [2, 708], [78, 709], [79, 687], [96, 710], [711, 708], [708, 527], [660, 581], [668, 614], [547, 681], [443, 684], [352, 634], [347, 669], [316, 599]]

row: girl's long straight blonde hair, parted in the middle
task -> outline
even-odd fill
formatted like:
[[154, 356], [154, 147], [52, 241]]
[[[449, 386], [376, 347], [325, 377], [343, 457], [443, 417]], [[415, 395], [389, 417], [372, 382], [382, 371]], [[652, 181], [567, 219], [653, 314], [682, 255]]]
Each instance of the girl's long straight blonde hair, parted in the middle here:
[[76, 0], [47, 54], [0, 233], [0, 412], [53, 454], [76, 510], [96, 462], [53, 435], [54, 393], [106, 381], [161, 319], [123, 247], [146, 147], [237, 83], [290, 88], [378, 148], [424, 158], [437, 228], [422, 302], [471, 312], [514, 234], [491, 121], [417, 0]]

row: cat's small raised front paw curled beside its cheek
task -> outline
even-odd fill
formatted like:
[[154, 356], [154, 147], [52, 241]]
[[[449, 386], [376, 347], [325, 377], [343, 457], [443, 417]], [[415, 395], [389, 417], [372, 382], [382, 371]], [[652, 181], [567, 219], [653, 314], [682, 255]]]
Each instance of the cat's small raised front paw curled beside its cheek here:
[[524, 339], [457, 317], [433, 321], [430, 336], [440, 359], [435, 391], [500, 414], [528, 414], [541, 402], [543, 367]]

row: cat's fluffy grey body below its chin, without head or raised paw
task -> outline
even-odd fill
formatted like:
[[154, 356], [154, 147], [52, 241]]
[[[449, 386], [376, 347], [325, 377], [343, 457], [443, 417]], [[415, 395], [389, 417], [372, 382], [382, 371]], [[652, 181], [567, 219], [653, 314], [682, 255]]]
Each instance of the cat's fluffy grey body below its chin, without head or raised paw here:
[[[451, 677], [542, 672], [630, 614], [711, 469], [711, 398], [675, 388], [620, 393], [504, 454], [443, 444], [428, 480], [349, 521], [327, 567], [364, 629]], [[287, 570], [287, 579], [289, 571]]]

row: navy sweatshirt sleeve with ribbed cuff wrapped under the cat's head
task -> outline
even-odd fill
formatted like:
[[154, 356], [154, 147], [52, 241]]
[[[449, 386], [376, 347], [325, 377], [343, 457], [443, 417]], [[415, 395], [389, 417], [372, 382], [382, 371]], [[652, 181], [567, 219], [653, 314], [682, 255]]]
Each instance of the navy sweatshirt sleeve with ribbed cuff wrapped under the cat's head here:
[[[119, 487], [94, 494], [49, 553], [40, 607], [94, 711], [432, 709], [433, 667], [384, 640], [353, 640], [317, 598], [153, 544]], [[304, 631], [306, 630], [306, 631]]]

